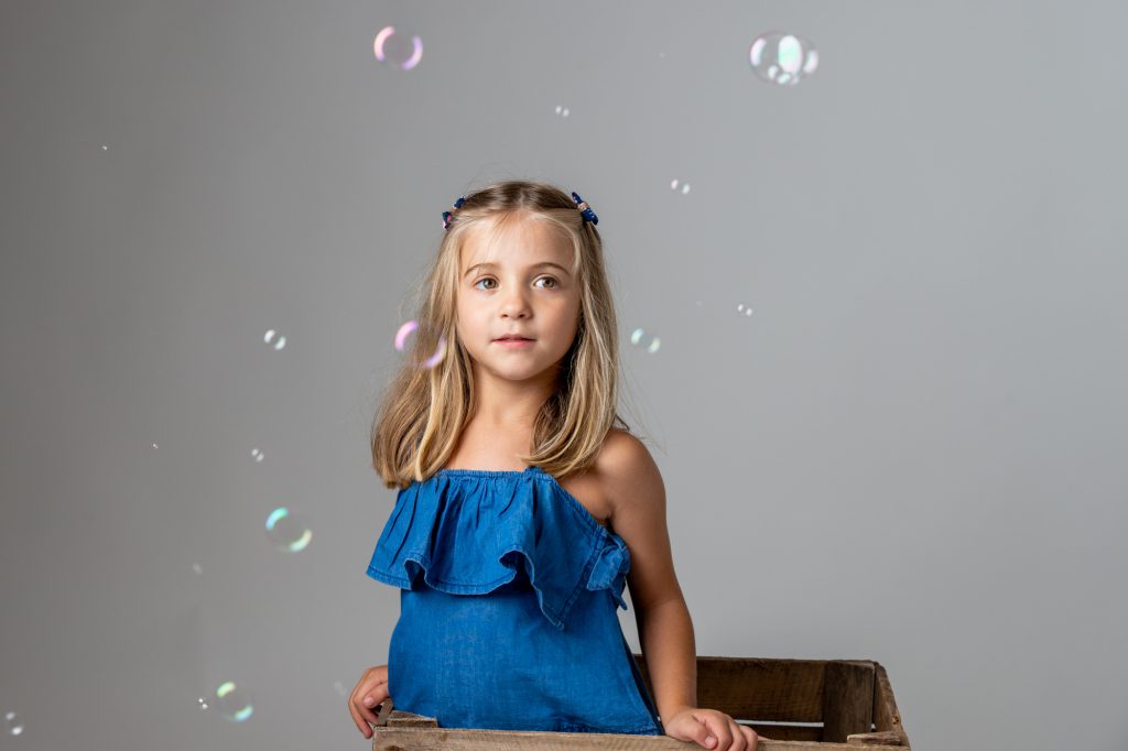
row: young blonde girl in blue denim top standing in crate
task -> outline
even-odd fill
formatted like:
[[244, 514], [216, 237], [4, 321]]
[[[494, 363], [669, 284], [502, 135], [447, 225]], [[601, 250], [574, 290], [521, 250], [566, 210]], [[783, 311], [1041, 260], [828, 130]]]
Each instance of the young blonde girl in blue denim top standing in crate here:
[[[349, 698], [364, 737], [390, 697], [440, 727], [756, 748], [695, 706], [662, 478], [616, 413], [598, 221], [575, 193], [523, 180], [443, 212], [425, 364], [399, 372], [372, 427], [373, 467], [399, 492], [368, 574], [400, 587], [400, 613], [388, 664]], [[616, 616], [625, 584], [656, 707]]]

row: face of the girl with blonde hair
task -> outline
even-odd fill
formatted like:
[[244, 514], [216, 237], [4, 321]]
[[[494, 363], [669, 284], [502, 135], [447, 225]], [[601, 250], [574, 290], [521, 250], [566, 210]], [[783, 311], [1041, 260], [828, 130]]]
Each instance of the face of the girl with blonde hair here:
[[[478, 368], [510, 381], [534, 379], [567, 353], [580, 321], [580, 288], [567, 268], [572, 245], [539, 221], [519, 221], [486, 250], [478, 228], [462, 246], [458, 337]], [[488, 257], [486, 256], [488, 253]], [[499, 342], [505, 335], [531, 339]]]

